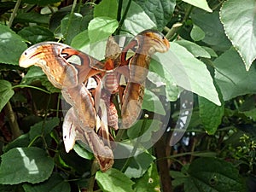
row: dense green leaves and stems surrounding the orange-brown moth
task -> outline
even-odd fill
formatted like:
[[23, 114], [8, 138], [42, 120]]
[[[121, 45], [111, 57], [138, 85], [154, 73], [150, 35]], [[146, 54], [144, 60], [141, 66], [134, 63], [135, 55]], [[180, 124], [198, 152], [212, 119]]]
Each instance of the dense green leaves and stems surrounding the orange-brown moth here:
[[[0, 191], [255, 191], [255, 9], [254, 0], [1, 1]], [[20, 55], [58, 41], [102, 59], [97, 42], [151, 28], [171, 48], [151, 61], [149, 118], [119, 138], [131, 157], [98, 171], [84, 143], [66, 153], [60, 90], [40, 68], [19, 67]], [[187, 131], [170, 146], [175, 127]]]

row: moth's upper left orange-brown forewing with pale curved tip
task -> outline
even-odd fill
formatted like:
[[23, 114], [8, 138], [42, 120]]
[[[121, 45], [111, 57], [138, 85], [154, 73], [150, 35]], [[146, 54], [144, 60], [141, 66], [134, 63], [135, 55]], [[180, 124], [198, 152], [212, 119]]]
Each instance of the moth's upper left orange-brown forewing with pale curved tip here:
[[[79, 64], [67, 61], [73, 55], [78, 56]], [[23, 52], [19, 63], [20, 67], [41, 67], [49, 81], [59, 89], [74, 87], [90, 76], [104, 71], [100, 61], [66, 44], [56, 42], [33, 45]]]

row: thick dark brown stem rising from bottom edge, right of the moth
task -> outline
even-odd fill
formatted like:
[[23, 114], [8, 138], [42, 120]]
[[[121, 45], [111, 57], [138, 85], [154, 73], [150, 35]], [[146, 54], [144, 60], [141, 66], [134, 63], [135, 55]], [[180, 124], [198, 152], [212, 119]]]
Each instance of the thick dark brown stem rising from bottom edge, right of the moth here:
[[164, 137], [155, 143], [155, 153], [157, 155], [157, 166], [160, 172], [161, 188], [163, 192], [172, 192], [172, 181], [169, 173], [168, 161], [166, 157], [166, 142]]

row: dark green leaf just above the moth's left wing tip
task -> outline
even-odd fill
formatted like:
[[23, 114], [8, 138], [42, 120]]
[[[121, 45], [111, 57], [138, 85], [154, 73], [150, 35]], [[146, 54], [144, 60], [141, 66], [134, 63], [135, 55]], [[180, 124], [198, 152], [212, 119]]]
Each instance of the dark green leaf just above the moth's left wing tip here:
[[27, 26], [21, 29], [18, 34], [32, 44], [55, 39], [53, 32], [50, 32], [49, 29], [43, 26]]

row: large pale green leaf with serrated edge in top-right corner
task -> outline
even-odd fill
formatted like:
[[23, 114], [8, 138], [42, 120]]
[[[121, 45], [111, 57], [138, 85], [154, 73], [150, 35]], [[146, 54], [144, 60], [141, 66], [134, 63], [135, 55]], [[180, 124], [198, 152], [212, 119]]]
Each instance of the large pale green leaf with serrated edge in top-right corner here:
[[255, 9], [255, 0], [242, 3], [239, 0], [229, 0], [223, 3], [220, 10], [224, 30], [241, 55], [247, 70], [256, 58]]

